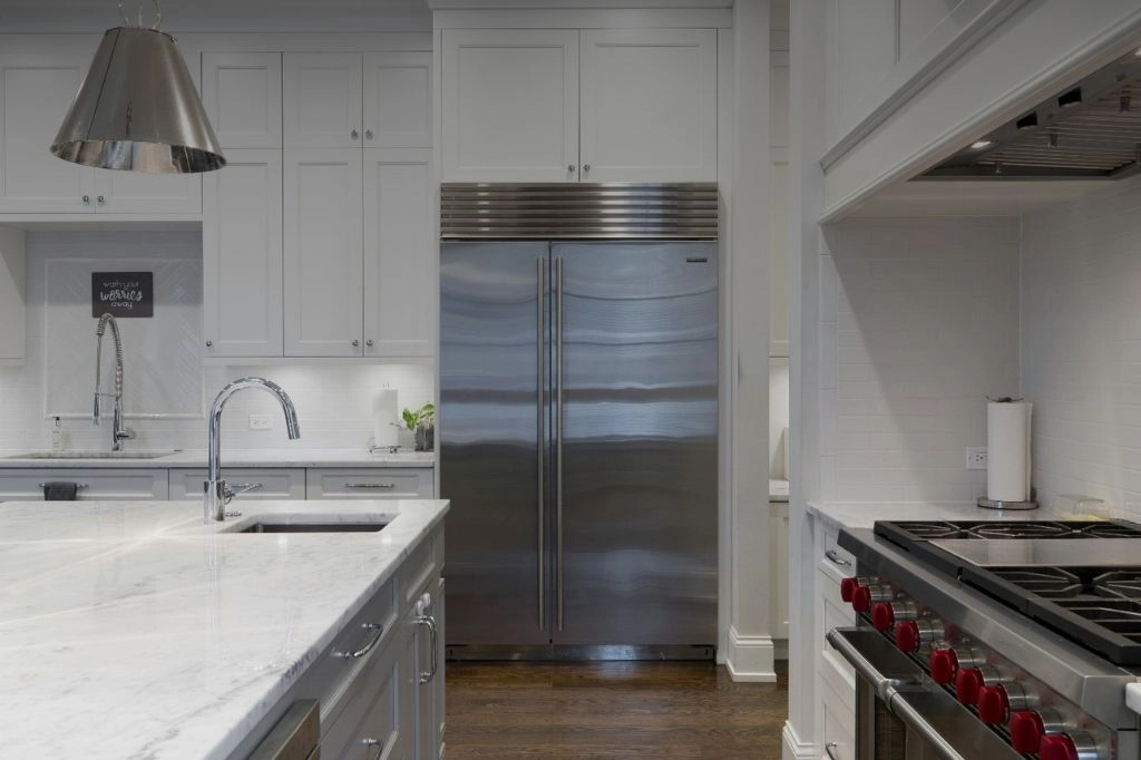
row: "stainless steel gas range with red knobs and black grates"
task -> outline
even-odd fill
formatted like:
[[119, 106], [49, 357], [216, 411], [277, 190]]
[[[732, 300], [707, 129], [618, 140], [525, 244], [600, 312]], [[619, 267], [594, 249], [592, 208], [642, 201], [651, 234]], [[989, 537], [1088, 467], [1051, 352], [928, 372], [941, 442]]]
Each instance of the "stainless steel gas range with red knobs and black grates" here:
[[1141, 758], [1125, 704], [1141, 676], [1141, 525], [881, 522], [840, 545], [857, 559], [841, 597], [859, 624], [828, 640], [861, 674], [857, 694], [882, 703], [868, 715], [919, 715], [964, 760]]

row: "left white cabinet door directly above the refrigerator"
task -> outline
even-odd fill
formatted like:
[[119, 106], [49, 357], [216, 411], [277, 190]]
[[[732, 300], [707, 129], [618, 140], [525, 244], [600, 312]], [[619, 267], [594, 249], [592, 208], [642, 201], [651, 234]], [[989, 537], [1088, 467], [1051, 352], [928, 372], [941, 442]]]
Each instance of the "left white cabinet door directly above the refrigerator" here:
[[447, 181], [578, 179], [578, 32], [445, 30]]

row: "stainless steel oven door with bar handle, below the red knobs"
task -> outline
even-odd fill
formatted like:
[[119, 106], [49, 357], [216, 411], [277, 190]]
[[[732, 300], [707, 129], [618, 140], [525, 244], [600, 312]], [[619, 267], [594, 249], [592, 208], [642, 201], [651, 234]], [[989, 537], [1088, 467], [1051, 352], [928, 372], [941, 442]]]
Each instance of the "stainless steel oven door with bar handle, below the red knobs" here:
[[835, 628], [827, 639], [856, 669], [856, 760], [1022, 758], [879, 632]]

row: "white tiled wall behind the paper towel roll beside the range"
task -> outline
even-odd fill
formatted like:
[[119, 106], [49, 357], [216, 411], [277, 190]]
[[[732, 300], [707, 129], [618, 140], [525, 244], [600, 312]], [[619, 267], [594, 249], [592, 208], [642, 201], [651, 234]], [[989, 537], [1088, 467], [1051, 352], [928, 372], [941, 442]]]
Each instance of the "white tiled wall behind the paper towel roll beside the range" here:
[[852, 221], [820, 260], [820, 495], [969, 500], [986, 396], [1019, 388], [1015, 219]]

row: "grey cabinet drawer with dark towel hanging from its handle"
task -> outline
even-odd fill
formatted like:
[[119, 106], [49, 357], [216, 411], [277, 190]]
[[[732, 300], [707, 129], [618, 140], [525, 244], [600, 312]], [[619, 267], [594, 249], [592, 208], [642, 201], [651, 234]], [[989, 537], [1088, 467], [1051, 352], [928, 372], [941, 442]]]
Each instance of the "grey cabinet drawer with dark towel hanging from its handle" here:
[[42, 483], [71, 480], [83, 501], [167, 499], [167, 470], [30, 469], [0, 471], [0, 501], [42, 501]]

